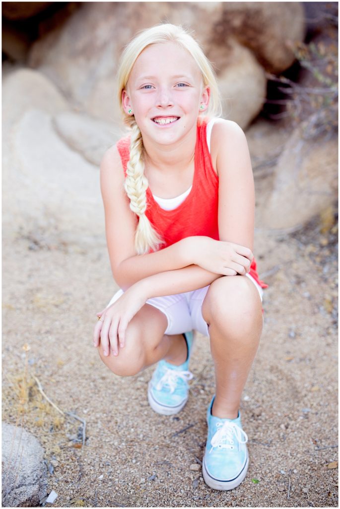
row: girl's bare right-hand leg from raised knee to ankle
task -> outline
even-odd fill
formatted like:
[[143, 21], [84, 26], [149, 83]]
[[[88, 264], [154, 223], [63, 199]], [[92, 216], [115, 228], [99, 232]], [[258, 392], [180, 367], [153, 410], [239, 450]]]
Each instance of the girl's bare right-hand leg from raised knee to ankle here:
[[212, 282], [202, 305], [209, 324], [216, 395], [212, 415], [234, 419], [262, 332], [261, 299], [245, 276]]

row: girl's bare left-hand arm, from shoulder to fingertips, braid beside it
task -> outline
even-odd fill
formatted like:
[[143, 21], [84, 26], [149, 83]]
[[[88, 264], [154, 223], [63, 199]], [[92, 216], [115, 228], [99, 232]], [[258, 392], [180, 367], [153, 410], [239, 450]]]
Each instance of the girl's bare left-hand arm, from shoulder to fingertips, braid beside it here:
[[[244, 250], [243, 246], [203, 236], [187, 237], [160, 251], [137, 255], [134, 247], [136, 216], [130, 210], [123, 185], [120, 156], [116, 147], [112, 147], [101, 163], [101, 191], [111, 269], [120, 288], [127, 290], [146, 277], [193, 264], [222, 275], [234, 275], [240, 270], [244, 271], [236, 258], [241, 256], [241, 263], [244, 265], [243, 257], [250, 259], [252, 256], [249, 249]], [[233, 258], [235, 260], [232, 260]]]

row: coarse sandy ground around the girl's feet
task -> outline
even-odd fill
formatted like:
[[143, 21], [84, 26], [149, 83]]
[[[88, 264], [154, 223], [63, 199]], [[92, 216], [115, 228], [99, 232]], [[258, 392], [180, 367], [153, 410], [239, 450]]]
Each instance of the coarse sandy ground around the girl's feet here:
[[[3, 420], [15, 424], [19, 415], [27, 343], [20, 422], [45, 447], [53, 506], [338, 505], [337, 226], [323, 227], [315, 221], [282, 237], [256, 232], [269, 289], [241, 403], [250, 466], [231, 492], [211, 490], [201, 474], [214, 392], [207, 338], [197, 337], [187, 406], [158, 415], [146, 398], [152, 368], [119, 378], [91, 345], [95, 313], [116, 290], [102, 226], [102, 241], [88, 245], [46, 232], [4, 238]], [[60, 422], [33, 375], [61, 410], [86, 419], [83, 447], [80, 422]]]

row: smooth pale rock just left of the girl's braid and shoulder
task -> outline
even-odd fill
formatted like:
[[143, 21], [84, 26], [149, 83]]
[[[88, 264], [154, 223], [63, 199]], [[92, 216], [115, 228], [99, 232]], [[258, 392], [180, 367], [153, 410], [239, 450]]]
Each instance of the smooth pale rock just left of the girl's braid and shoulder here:
[[75, 111], [55, 115], [53, 126], [71, 149], [96, 166], [100, 165], [104, 152], [122, 136], [114, 124]]

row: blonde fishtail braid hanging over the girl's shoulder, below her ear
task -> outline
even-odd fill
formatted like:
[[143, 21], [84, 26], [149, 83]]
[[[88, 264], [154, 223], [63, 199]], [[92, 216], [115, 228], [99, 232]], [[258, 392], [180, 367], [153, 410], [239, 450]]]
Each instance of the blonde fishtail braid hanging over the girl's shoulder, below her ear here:
[[163, 241], [145, 215], [148, 182], [144, 175], [143, 140], [136, 122], [132, 124], [131, 129], [130, 160], [127, 164], [125, 190], [130, 199], [130, 209], [139, 217], [135, 234], [136, 251], [137, 254], [144, 254], [150, 249], [157, 250]]

